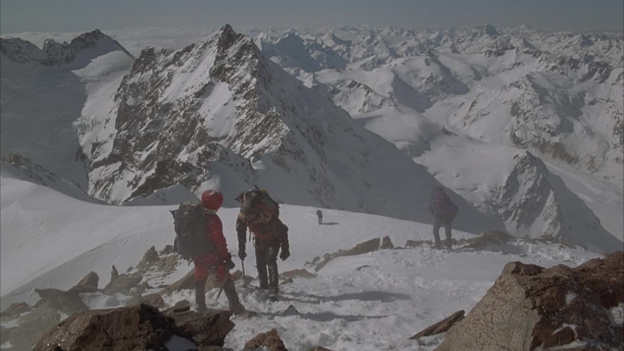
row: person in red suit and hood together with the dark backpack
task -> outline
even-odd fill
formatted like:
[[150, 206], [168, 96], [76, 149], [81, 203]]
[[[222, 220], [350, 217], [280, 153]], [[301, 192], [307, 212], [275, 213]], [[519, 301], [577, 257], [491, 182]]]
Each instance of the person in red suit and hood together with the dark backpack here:
[[223, 204], [223, 195], [215, 190], [202, 194], [202, 203], [183, 202], [171, 211], [174, 220], [176, 251], [195, 265], [195, 303], [198, 311], [207, 310], [205, 285], [208, 275], [215, 274], [228, 299], [228, 308], [234, 314], [245, 312], [229, 270], [234, 268], [232, 254], [223, 236], [223, 224], [217, 210]]

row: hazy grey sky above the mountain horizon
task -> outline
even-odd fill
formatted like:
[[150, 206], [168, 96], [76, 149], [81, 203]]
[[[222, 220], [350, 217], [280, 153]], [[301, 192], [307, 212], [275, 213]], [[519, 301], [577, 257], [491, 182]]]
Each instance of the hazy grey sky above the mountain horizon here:
[[624, 0], [0, 0], [0, 32], [371, 24], [624, 30]]

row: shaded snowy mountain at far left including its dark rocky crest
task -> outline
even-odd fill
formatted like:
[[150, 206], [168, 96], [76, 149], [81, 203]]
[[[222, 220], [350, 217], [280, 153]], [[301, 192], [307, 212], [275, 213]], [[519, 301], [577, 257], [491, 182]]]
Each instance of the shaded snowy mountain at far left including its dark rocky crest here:
[[71, 44], [47, 41], [43, 49], [2, 39], [2, 159], [17, 154], [86, 190], [87, 165], [76, 122], [102, 107], [85, 104], [102, 87], [114, 93], [133, 61], [99, 31], [82, 34]]

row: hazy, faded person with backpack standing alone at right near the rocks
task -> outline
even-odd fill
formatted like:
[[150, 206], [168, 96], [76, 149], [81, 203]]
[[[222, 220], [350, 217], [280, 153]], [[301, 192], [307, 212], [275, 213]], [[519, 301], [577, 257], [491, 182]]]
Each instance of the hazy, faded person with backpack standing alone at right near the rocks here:
[[446, 248], [452, 249], [451, 222], [457, 215], [459, 207], [453, 204], [449, 195], [442, 187], [431, 190], [431, 199], [427, 203], [427, 210], [433, 216], [433, 237], [436, 240], [436, 249], [441, 248], [440, 227], [444, 225], [446, 234]]

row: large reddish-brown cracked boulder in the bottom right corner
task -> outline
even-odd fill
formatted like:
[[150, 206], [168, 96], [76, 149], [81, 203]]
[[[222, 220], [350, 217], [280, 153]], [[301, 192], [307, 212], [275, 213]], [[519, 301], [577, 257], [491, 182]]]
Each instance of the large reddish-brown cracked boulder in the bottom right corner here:
[[623, 305], [623, 251], [576, 268], [511, 262], [436, 351], [618, 350]]

